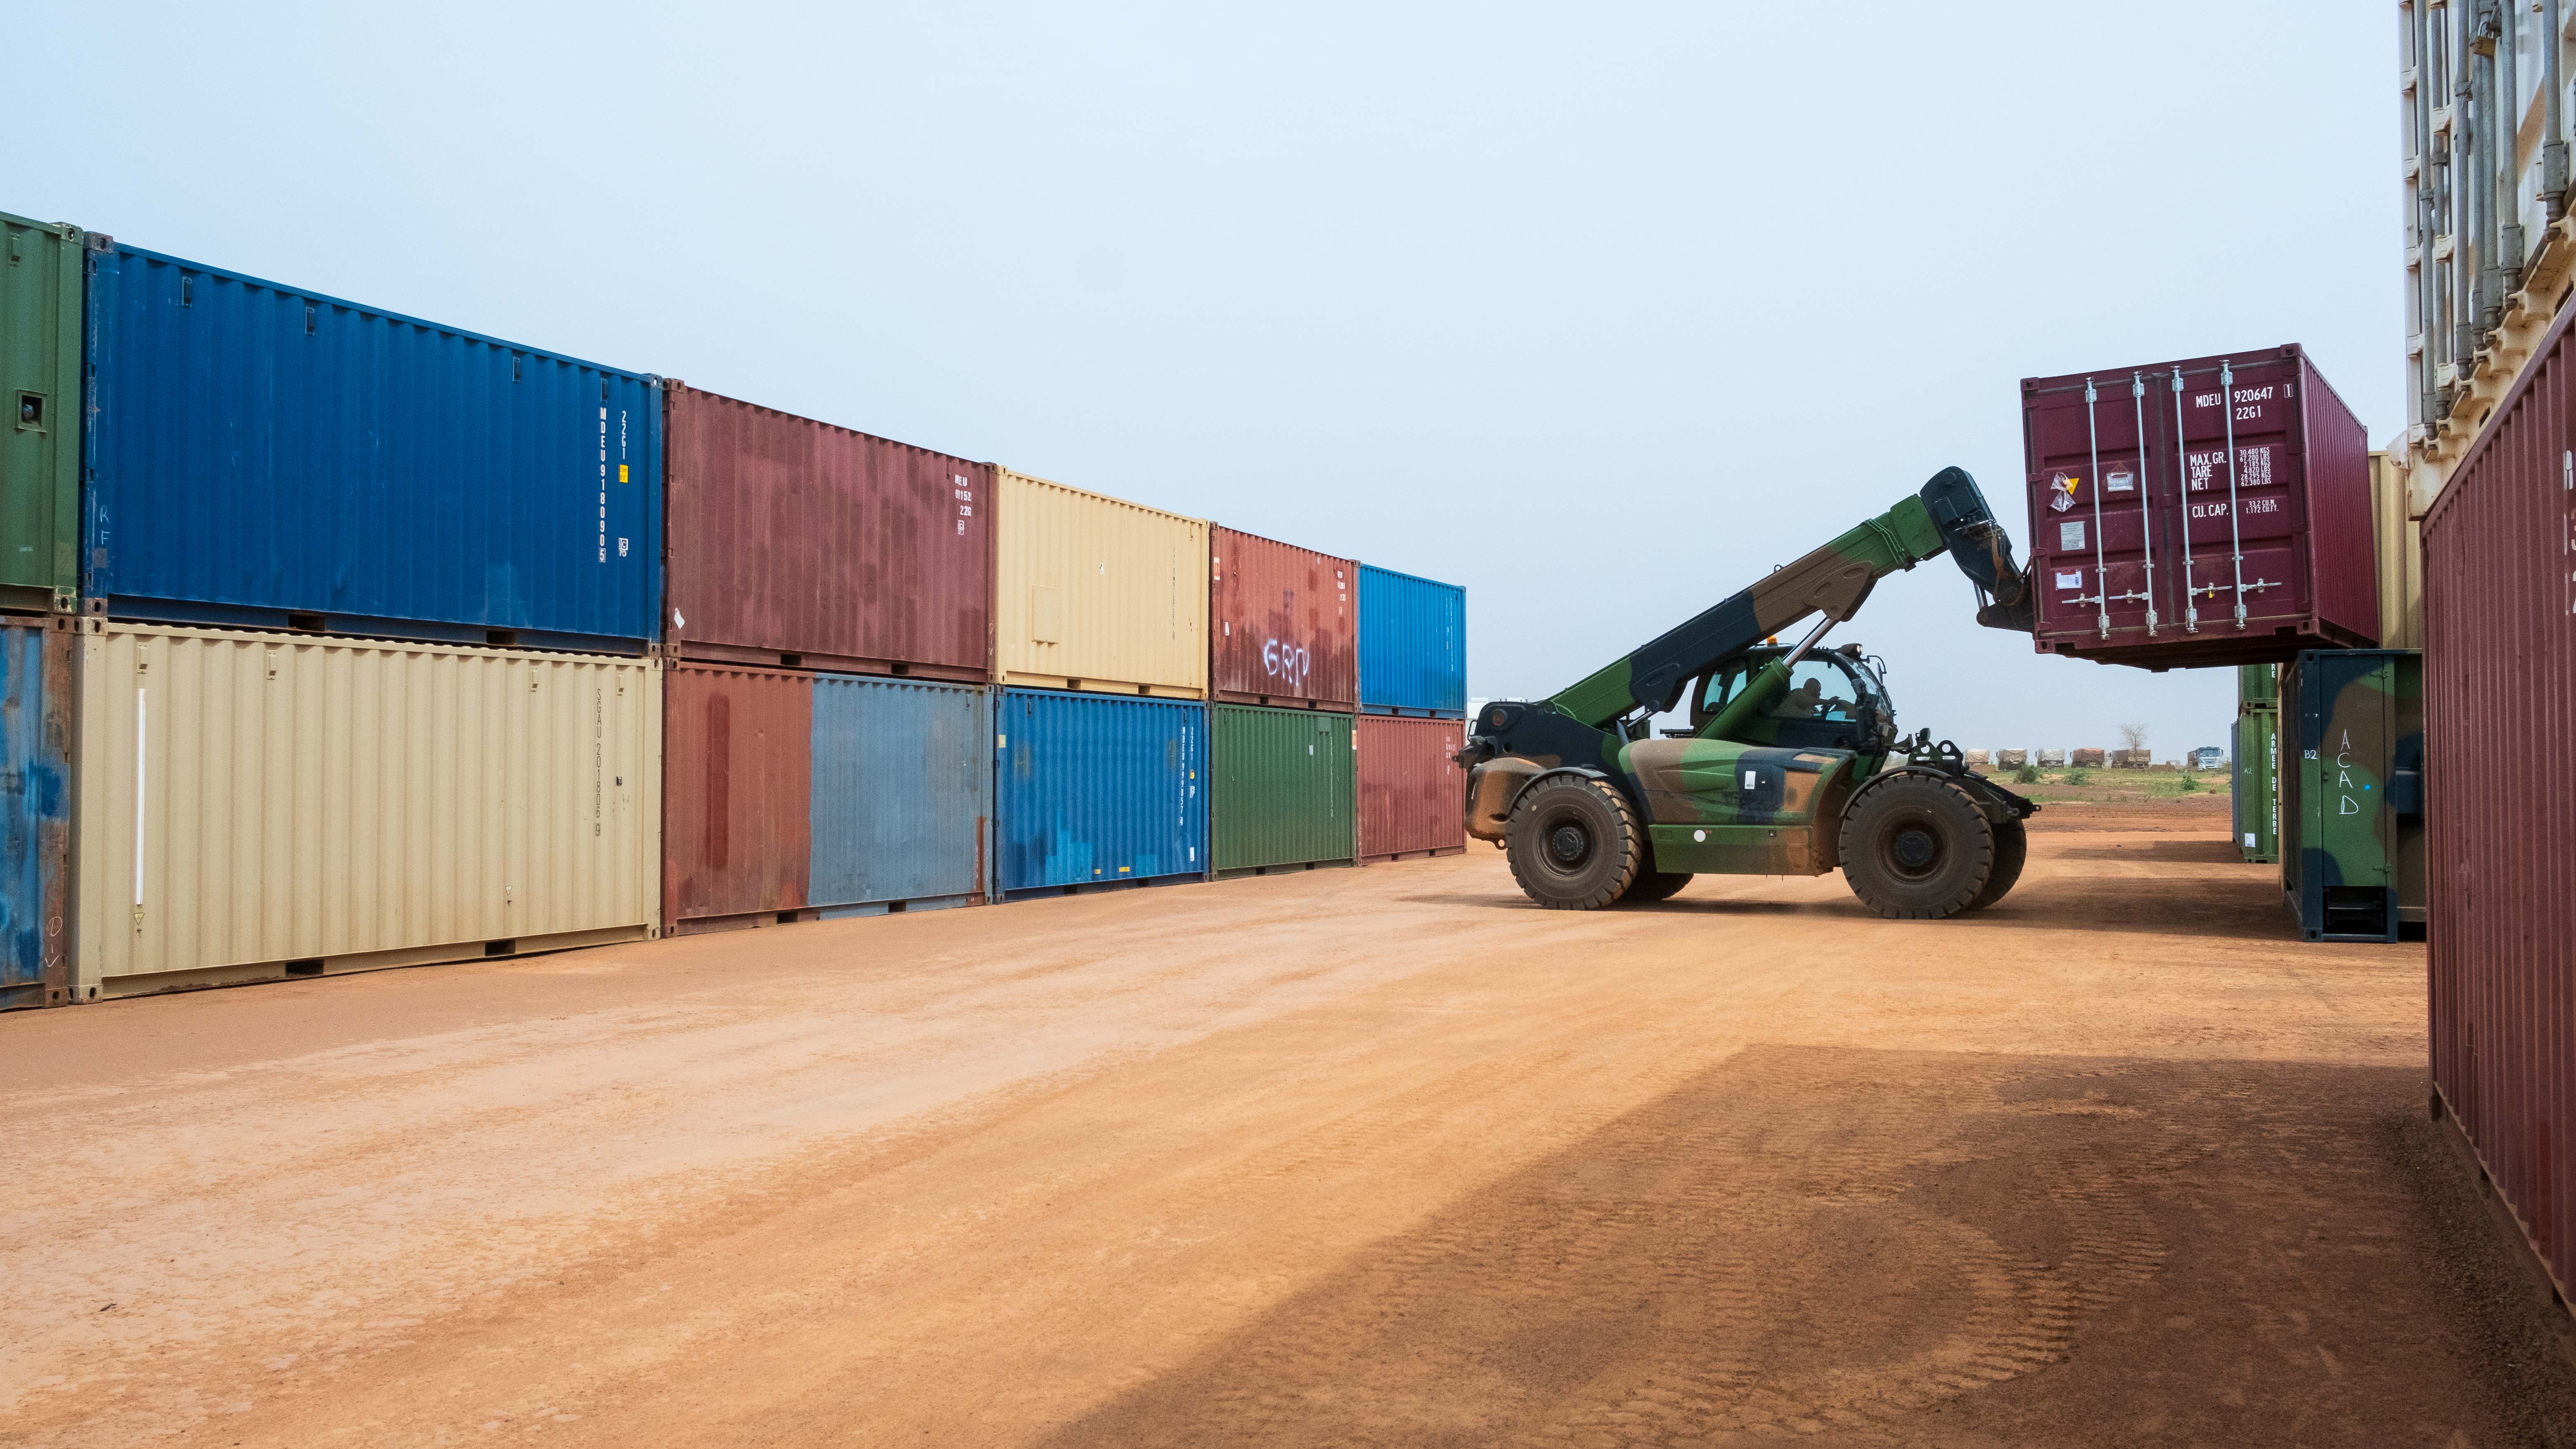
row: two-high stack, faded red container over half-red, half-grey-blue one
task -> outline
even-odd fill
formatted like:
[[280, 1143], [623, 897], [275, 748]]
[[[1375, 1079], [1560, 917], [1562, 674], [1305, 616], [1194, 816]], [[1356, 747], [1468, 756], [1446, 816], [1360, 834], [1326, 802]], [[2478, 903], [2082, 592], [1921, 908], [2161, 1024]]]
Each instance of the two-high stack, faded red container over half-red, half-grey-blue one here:
[[662, 920], [981, 900], [992, 467], [677, 382], [662, 400]]

